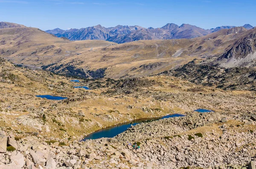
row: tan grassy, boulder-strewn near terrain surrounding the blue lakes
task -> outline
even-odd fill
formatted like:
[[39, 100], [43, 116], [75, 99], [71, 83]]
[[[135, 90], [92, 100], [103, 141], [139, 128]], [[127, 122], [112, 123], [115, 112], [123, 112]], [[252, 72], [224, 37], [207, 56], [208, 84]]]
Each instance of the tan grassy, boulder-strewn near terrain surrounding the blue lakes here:
[[[78, 85], [93, 90], [73, 88]], [[251, 91], [224, 91], [173, 76], [74, 83], [3, 59], [0, 91], [1, 169], [255, 167], [256, 96]], [[198, 108], [214, 112], [194, 112]], [[80, 142], [114, 124], [170, 113], [186, 116]], [[141, 148], [128, 144], [134, 142]]]

